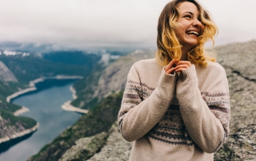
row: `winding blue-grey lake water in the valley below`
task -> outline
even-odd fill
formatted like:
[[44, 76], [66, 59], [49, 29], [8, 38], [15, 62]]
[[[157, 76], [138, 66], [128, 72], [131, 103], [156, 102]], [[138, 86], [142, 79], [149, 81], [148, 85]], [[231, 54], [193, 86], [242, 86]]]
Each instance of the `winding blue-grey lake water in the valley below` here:
[[[38, 91], [26, 93], [12, 100], [30, 109], [21, 116], [37, 120], [39, 128], [28, 139], [25, 139], [0, 154], [0, 161], [25, 161], [35, 155], [46, 144], [50, 143], [68, 126], [74, 124], [81, 114], [66, 112], [61, 105], [72, 100], [70, 85], [74, 80], [49, 80], [37, 84]], [[46, 88], [47, 87], [47, 88]]]

